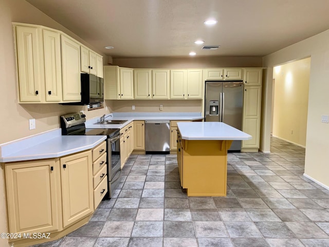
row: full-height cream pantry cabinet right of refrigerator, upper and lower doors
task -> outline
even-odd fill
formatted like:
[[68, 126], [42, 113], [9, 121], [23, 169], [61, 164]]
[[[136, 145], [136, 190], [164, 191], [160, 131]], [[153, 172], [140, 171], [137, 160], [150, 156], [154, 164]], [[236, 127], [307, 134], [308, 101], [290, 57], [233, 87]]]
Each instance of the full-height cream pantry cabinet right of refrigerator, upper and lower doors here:
[[244, 152], [258, 152], [260, 148], [262, 69], [245, 69], [242, 131], [252, 136], [242, 141]]

